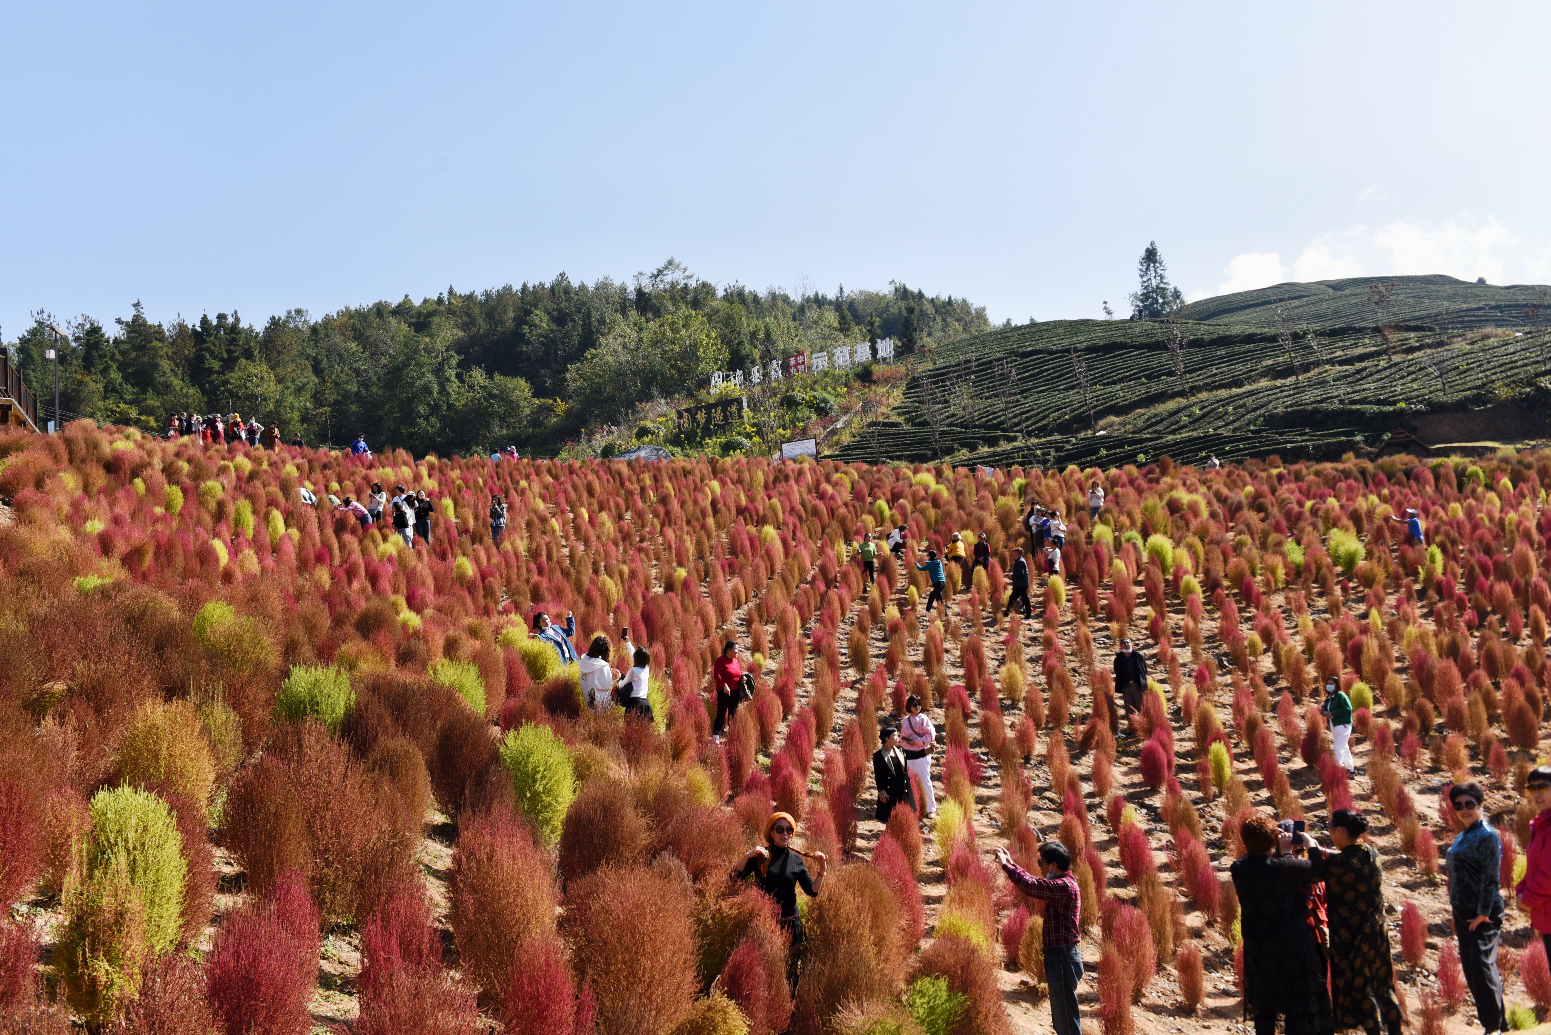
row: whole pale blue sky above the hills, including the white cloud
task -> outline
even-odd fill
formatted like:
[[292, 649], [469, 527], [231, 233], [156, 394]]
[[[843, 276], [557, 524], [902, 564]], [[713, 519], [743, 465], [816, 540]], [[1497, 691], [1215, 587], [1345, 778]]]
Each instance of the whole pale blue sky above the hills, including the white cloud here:
[[1546, 5], [11, 3], [0, 332], [676, 256], [993, 320], [1551, 279]]

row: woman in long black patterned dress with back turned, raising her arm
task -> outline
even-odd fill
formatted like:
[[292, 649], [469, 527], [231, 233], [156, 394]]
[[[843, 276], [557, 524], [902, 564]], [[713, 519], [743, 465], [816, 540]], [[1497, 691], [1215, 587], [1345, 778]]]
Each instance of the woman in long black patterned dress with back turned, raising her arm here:
[[1351, 808], [1331, 813], [1334, 852], [1311, 852], [1309, 880], [1325, 881], [1331, 922], [1331, 988], [1335, 1027], [1368, 1035], [1401, 1033], [1390, 933], [1383, 925], [1379, 853], [1360, 841], [1368, 821]]

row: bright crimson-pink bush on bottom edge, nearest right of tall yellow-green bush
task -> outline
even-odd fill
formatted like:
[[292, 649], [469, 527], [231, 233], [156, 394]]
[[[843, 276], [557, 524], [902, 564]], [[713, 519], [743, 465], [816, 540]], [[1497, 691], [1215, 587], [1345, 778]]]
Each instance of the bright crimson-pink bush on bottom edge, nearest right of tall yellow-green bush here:
[[205, 964], [216, 1018], [226, 1035], [299, 1035], [318, 974], [318, 911], [301, 874], [226, 919]]

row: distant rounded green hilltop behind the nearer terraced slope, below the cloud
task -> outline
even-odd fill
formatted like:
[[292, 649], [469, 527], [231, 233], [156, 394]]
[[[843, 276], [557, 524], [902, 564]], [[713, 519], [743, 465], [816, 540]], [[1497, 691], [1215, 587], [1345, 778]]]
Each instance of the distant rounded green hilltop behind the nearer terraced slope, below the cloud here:
[[[1377, 292], [1374, 286], [1379, 287]], [[1393, 290], [1385, 295], [1385, 289], [1391, 286]], [[1543, 286], [1472, 284], [1438, 273], [1273, 284], [1253, 292], [1204, 298], [1176, 310], [1174, 315], [1180, 320], [1270, 327], [1276, 323], [1280, 306], [1286, 320], [1312, 327], [1373, 327], [1388, 321], [1455, 331], [1523, 329], [1537, 324], [1542, 315], [1548, 315], [1545, 303]]]

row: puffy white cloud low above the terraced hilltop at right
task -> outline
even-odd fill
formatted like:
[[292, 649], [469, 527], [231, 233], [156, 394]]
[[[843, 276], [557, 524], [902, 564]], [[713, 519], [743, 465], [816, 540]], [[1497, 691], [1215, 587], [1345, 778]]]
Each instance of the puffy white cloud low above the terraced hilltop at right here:
[[1543, 279], [1548, 270], [1551, 248], [1517, 237], [1492, 217], [1463, 216], [1441, 225], [1399, 220], [1377, 230], [1332, 230], [1298, 254], [1294, 279], [1446, 273], [1511, 284]]

